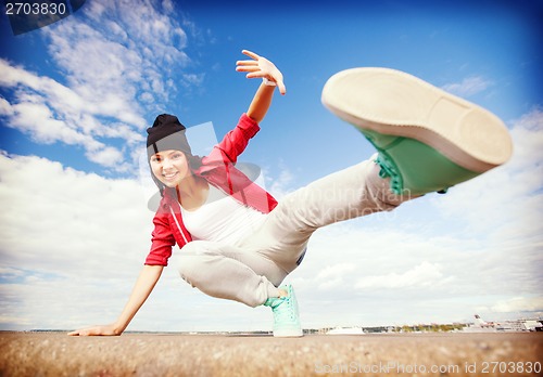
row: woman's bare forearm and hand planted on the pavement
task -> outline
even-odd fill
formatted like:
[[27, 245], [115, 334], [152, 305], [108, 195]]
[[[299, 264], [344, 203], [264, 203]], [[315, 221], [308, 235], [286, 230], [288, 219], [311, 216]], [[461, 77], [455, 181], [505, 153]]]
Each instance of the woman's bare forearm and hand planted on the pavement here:
[[141, 270], [136, 285], [134, 286], [130, 298], [125, 306], [125, 309], [118, 316], [117, 321], [112, 324], [103, 326], [92, 326], [88, 328], [81, 328], [68, 335], [121, 335], [126, 329], [130, 321], [134, 318], [138, 310], [141, 308], [143, 302], [153, 290], [156, 282], [161, 277], [162, 265], [144, 265]]

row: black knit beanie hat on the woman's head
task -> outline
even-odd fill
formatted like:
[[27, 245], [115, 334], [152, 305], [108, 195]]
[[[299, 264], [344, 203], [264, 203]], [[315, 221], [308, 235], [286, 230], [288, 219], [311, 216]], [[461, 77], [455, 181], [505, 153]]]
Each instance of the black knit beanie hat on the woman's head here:
[[168, 150], [181, 151], [192, 156], [187, 136], [186, 127], [179, 122], [176, 116], [161, 114], [154, 119], [153, 127], [147, 129], [147, 154], [152, 155]]

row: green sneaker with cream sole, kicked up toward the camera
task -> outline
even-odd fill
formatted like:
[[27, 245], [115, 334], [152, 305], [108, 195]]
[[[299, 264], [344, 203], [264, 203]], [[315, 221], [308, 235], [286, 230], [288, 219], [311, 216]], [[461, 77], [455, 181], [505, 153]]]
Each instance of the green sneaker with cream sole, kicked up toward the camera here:
[[396, 194], [444, 192], [513, 152], [495, 115], [403, 72], [340, 72], [326, 82], [323, 104], [374, 144], [380, 176], [391, 178]]

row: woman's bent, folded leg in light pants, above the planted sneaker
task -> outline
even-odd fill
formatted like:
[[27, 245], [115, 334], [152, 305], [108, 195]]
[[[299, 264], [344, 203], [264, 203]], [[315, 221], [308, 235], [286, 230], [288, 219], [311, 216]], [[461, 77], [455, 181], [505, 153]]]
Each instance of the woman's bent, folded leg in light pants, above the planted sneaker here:
[[179, 274], [204, 294], [250, 307], [279, 297], [287, 272], [268, 258], [235, 246], [194, 240], [179, 253]]

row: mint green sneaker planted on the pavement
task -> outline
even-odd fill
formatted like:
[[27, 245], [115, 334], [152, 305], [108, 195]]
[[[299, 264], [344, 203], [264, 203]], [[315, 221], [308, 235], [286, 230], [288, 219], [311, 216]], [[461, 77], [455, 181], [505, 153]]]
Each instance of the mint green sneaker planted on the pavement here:
[[274, 312], [274, 337], [301, 337], [303, 332], [294, 288], [291, 285], [279, 288], [287, 290], [289, 295], [270, 297], [264, 302]]

